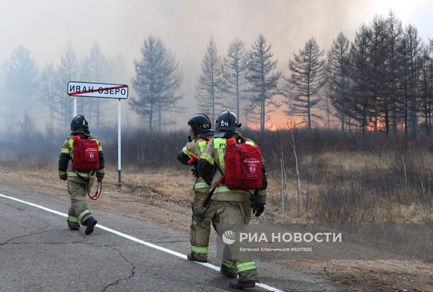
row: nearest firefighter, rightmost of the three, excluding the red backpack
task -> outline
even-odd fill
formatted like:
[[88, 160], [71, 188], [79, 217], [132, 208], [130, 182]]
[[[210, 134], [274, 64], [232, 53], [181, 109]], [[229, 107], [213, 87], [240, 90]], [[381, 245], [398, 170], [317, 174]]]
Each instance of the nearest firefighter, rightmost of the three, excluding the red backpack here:
[[[216, 120], [216, 134], [207, 144], [207, 147], [200, 156], [198, 162], [199, 175], [211, 184], [214, 190], [212, 199], [216, 206], [216, 215], [213, 218], [214, 226], [220, 237], [224, 230], [218, 226], [234, 226], [236, 232], [245, 232], [244, 226], [249, 223], [251, 211], [255, 216], [260, 216], [265, 210], [266, 202], [266, 172], [262, 164], [263, 185], [262, 189], [256, 192], [257, 196], [252, 204], [254, 194], [228, 189], [225, 183], [216, 185], [225, 173], [225, 147], [226, 139], [235, 138], [237, 143], [248, 143], [257, 146], [253, 141], [245, 139], [239, 133], [236, 115], [228, 109], [221, 112]], [[224, 228], [224, 227], [223, 227]], [[259, 282], [259, 275], [256, 270], [251, 252], [239, 252], [242, 243], [225, 244], [221, 273], [226, 276], [239, 275], [238, 279], [230, 280], [230, 287], [236, 289], [255, 287], [255, 282]], [[233, 277], [233, 278], [236, 278]]]

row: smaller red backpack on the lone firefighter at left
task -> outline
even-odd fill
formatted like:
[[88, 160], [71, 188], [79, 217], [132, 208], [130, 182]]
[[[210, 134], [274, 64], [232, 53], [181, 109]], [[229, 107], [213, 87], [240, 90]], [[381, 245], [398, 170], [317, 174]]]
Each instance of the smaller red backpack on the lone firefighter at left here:
[[74, 159], [72, 171], [96, 171], [99, 169], [98, 142], [74, 136]]

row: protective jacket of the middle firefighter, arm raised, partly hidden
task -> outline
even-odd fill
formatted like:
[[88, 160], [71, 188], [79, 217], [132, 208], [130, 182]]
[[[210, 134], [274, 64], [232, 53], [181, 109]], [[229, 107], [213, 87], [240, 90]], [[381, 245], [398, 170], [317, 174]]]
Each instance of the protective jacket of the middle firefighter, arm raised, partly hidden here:
[[[190, 154], [200, 158], [201, 153], [204, 151], [204, 148], [206, 148], [207, 141], [209, 141], [208, 138], [200, 137], [188, 142], [178, 154], [178, 160], [181, 162], [181, 164], [188, 165], [188, 161], [191, 160]], [[194, 161], [194, 171], [197, 177], [197, 161]], [[194, 191], [209, 193], [209, 185], [204, 181], [203, 178], [199, 177], [194, 184]]]

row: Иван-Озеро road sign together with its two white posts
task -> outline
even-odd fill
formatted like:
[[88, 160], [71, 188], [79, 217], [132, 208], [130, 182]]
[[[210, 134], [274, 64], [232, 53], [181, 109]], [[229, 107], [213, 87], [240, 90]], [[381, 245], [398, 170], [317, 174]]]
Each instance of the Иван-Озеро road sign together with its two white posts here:
[[120, 99], [128, 98], [128, 85], [69, 81], [68, 95], [74, 96], [74, 116], [77, 116], [77, 96], [119, 99], [117, 101], [117, 171], [120, 183]]

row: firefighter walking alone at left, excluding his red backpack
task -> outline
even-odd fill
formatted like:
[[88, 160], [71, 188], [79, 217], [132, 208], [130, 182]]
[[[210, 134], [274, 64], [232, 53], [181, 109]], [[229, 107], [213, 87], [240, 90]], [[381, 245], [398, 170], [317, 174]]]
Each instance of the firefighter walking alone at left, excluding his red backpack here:
[[[72, 171], [72, 160], [74, 159], [73, 137], [79, 135], [81, 139], [87, 138], [97, 141], [99, 153], [99, 170], [93, 173]], [[61, 180], [68, 180], [68, 193], [71, 197], [71, 206], [68, 212], [68, 226], [71, 230], [78, 230], [80, 224], [86, 226], [85, 234], [93, 232], [97, 224], [90, 213], [86, 200], [87, 192], [90, 192], [95, 176], [98, 183], [102, 182], [105, 174], [104, 154], [98, 138], [89, 132], [89, 123], [83, 115], [74, 117], [71, 121], [71, 135], [66, 138], [60, 151], [58, 160], [58, 176]], [[81, 176], [81, 177], [80, 177]], [[88, 180], [88, 183], [83, 180]]]

